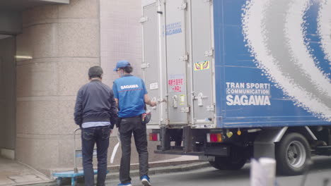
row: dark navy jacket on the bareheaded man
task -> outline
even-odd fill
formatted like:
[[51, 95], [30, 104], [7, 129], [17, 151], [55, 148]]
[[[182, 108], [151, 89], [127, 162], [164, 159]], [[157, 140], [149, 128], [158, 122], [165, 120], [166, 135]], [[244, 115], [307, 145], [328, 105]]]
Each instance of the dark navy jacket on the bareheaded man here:
[[99, 80], [83, 85], [77, 94], [74, 120], [77, 125], [93, 121], [117, 122], [117, 107], [112, 89]]

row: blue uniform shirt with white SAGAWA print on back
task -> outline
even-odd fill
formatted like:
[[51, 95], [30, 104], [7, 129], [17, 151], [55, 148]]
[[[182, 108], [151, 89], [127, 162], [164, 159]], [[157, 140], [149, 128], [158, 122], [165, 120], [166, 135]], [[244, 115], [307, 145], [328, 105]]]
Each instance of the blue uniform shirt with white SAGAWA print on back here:
[[145, 113], [144, 95], [147, 94], [144, 80], [133, 75], [124, 75], [112, 85], [114, 97], [118, 99], [118, 116], [129, 118]]

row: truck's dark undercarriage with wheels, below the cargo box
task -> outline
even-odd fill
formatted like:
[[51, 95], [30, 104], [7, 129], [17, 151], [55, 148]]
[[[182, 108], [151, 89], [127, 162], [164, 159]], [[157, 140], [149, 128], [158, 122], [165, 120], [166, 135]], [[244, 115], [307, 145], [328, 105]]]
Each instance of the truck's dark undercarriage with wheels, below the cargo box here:
[[[234, 133], [236, 130], [163, 126], [160, 130], [153, 130], [159, 132], [161, 137], [161, 144], [155, 153], [199, 156], [219, 169], [241, 168], [250, 158], [270, 157], [282, 162], [280, 172], [286, 175], [303, 173], [310, 154], [331, 156], [330, 126], [242, 128], [242, 134], [227, 136], [228, 132]], [[207, 142], [210, 132], [221, 133], [222, 142]]]

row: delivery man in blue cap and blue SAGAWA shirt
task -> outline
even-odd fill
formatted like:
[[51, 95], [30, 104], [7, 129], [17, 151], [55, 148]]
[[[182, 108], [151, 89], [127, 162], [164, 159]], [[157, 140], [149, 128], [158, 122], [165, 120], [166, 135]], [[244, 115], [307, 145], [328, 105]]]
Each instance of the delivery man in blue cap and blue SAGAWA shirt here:
[[130, 156], [131, 137], [134, 135], [134, 142], [139, 154], [139, 174], [141, 183], [151, 186], [149, 180], [149, 152], [147, 151], [146, 125], [141, 123], [141, 114], [146, 113], [144, 106], [156, 106], [147, 96], [144, 80], [131, 75], [132, 66], [129, 61], [118, 61], [114, 71], [120, 76], [114, 81], [112, 90], [118, 106], [118, 117], [120, 140], [122, 144], [122, 159], [120, 165], [120, 184], [131, 185]]

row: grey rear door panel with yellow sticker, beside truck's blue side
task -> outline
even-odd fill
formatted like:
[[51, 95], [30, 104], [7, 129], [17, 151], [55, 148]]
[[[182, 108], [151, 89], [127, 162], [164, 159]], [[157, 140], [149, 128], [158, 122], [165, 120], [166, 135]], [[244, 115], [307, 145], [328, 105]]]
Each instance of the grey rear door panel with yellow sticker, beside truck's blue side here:
[[214, 123], [214, 46], [212, 1], [191, 0], [192, 28], [192, 123]]

